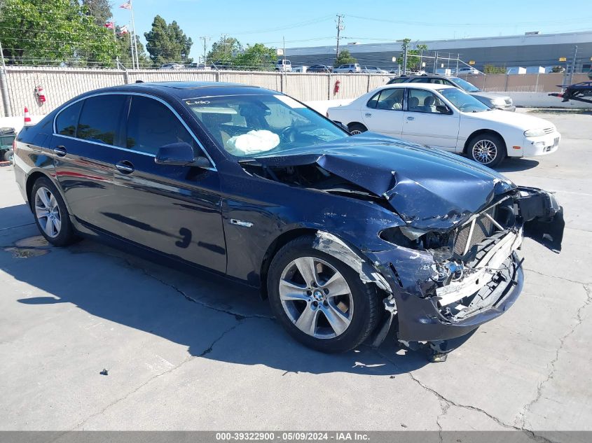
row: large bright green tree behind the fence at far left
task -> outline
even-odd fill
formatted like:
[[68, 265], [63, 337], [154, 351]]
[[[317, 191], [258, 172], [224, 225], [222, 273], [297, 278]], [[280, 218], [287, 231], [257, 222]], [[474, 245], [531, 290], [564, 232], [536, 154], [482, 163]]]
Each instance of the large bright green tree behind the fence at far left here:
[[113, 66], [113, 34], [71, 0], [4, 0], [4, 57], [12, 64]]

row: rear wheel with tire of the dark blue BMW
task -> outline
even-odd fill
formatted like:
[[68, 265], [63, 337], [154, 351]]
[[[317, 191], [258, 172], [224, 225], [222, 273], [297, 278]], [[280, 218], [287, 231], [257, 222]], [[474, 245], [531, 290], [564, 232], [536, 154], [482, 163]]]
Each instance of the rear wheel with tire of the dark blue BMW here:
[[76, 241], [66, 204], [49, 178], [41, 177], [35, 181], [29, 202], [39, 232], [50, 244], [67, 246]]

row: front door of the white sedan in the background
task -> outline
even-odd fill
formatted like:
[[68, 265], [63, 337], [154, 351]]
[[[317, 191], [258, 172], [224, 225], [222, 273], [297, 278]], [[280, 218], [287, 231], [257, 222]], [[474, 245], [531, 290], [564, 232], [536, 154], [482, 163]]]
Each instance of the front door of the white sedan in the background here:
[[430, 90], [408, 88], [401, 138], [434, 148], [455, 151], [460, 115], [441, 113], [444, 102]]

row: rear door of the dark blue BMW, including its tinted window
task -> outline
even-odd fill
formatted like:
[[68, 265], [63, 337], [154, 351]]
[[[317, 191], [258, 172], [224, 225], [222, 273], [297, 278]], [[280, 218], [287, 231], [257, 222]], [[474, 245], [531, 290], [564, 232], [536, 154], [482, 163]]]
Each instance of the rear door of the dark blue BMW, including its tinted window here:
[[109, 230], [113, 165], [121, 146], [125, 96], [102, 94], [76, 101], [57, 114], [50, 141], [55, 171], [72, 215]]

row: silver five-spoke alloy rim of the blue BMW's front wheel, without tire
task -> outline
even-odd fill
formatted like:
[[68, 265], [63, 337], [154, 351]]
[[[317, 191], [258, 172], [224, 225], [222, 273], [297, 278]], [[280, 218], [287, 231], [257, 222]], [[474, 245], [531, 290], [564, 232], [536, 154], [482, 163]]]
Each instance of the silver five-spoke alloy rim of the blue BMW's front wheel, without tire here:
[[280, 300], [296, 328], [317, 339], [343, 334], [352, 322], [354, 300], [350, 286], [324, 260], [301, 257], [282, 272]]

